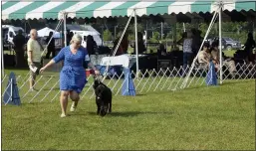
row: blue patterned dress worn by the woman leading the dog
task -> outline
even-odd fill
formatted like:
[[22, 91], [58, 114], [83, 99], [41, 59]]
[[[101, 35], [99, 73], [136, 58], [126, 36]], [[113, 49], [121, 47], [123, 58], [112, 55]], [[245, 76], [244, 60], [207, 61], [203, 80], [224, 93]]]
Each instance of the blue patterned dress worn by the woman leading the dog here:
[[84, 61], [90, 62], [88, 52], [85, 48], [79, 48], [77, 54], [72, 54], [70, 46], [65, 47], [53, 59], [55, 63], [64, 60], [64, 67], [60, 73], [60, 89], [74, 90], [81, 93], [87, 77], [83, 67]]

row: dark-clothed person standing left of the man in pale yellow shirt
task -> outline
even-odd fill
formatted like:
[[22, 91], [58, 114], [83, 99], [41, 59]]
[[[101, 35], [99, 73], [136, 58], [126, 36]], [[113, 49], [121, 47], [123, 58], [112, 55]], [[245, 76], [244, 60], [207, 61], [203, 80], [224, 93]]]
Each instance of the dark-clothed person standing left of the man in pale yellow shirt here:
[[16, 35], [13, 39], [14, 43], [14, 50], [15, 50], [15, 62], [16, 62], [16, 68], [23, 67], [24, 65], [24, 54], [25, 49], [24, 46], [26, 44], [26, 39], [22, 35], [22, 30], [18, 31], [18, 35]]

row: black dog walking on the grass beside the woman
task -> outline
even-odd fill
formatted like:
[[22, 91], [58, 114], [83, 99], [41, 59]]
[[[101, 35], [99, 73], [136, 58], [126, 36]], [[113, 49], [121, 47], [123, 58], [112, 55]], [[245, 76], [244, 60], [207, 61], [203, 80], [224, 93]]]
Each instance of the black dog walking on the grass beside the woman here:
[[112, 90], [101, 82], [95, 79], [94, 89], [96, 94], [97, 114], [105, 116], [107, 112], [112, 112]]

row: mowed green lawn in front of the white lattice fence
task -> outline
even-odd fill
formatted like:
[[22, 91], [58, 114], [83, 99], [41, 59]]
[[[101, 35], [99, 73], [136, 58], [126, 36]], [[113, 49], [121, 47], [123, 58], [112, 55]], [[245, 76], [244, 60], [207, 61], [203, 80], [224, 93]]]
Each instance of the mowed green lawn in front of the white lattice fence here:
[[59, 98], [22, 101], [2, 105], [4, 150], [255, 150], [254, 79], [115, 96], [105, 117], [94, 99], [66, 118]]

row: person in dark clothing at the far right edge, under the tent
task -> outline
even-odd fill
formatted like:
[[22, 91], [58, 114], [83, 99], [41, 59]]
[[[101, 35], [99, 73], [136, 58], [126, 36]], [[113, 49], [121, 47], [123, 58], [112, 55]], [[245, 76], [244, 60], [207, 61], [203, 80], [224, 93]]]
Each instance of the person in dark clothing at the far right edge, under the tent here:
[[245, 51], [247, 53], [248, 61], [253, 62], [253, 53], [252, 50], [255, 48], [255, 41], [253, 39], [252, 33], [248, 33], [247, 41], [244, 44]]

